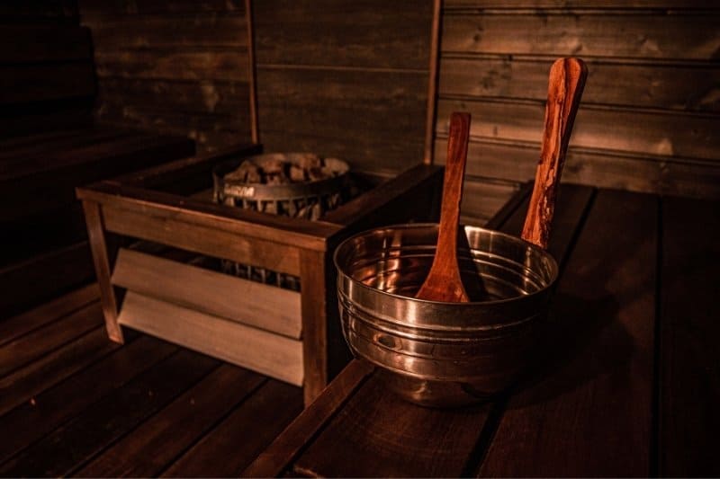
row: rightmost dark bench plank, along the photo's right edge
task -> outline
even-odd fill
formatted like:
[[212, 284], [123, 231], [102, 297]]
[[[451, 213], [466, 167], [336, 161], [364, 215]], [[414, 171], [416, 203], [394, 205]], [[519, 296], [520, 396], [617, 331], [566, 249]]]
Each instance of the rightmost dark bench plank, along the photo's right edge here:
[[720, 474], [716, 202], [662, 199], [658, 475]]

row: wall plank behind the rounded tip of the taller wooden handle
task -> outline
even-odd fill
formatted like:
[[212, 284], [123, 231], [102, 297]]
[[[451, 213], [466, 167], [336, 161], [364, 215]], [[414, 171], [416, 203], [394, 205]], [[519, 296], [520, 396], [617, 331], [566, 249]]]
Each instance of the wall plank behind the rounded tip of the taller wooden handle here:
[[[440, 95], [521, 98], [545, 102], [550, 58], [514, 55], [446, 56], [440, 65]], [[718, 111], [720, 68], [714, 63], [632, 63], [587, 58], [590, 81], [583, 104], [599, 103], [676, 111]]]

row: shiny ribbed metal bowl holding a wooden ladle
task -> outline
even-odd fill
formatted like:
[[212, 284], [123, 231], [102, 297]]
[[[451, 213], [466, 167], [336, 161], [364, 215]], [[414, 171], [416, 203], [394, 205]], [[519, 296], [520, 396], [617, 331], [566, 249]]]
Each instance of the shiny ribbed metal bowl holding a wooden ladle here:
[[437, 225], [378, 228], [338, 246], [343, 334], [356, 357], [380, 367], [415, 404], [459, 406], [505, 390], [536, 355], [557, 263], [515, 236], [464, 226], [464, 282], [482, 285], [470, 303], [416, 299], [435, 255]]

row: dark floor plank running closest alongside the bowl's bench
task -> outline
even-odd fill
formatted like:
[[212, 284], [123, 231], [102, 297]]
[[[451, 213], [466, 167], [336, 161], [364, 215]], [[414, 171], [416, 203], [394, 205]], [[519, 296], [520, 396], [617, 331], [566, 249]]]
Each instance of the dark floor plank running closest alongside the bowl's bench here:
[[299, 387], [267, 380], [162, 476], [237, 476], [300, 412], [302, 390]]

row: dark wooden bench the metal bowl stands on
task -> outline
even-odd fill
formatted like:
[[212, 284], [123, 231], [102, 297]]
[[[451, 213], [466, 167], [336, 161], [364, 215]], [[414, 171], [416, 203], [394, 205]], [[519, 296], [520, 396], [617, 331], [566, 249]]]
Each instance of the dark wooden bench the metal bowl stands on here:
[[[527, 194], [490, 226], [517, 235]], [[717, 206], [563, 185], [549, 246], [563, 272], [533, 380], [428, 409], [354, 360], [244, 475], [720, 475], [720, 245], [704, 234]]]

